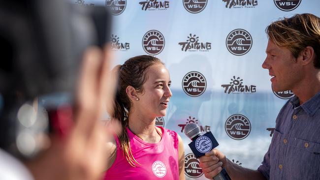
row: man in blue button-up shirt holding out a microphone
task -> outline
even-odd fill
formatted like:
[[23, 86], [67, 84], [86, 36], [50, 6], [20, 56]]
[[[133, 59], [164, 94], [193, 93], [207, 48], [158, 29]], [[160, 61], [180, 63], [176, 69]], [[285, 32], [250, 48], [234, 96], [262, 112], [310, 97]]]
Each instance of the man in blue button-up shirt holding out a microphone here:
[[257, 170], [232, 163], [214, 149], [200, 157], [205, 177], [224, 167], [232, 180], [320, 179], [320, 18], [296, 14], [266, 28], [269, 41], [262, 67], [274, 91], [295, 95], [280, 110], [269, 150]]

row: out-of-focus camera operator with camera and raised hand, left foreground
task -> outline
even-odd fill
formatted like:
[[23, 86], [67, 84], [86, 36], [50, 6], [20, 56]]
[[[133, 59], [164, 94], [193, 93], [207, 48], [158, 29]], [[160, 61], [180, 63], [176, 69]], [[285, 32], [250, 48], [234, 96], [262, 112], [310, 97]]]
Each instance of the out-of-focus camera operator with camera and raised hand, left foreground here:
[[101, 179], [116, 129], [100, 122], [114, 99], [111, 16], [64, 0], [6, 1], [0, 14], [0, 179]]

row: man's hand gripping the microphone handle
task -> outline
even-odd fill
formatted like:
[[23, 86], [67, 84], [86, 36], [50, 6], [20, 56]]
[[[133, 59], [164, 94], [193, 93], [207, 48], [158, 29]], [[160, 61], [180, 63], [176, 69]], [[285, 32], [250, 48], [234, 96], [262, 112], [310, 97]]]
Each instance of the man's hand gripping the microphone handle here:
[[213, 149], [199, 158], [199, 166], [202, 168], [204, 176], [211, 180], [217, 176], [226, 165], [227, 160], [225, 155], [217, 149]]

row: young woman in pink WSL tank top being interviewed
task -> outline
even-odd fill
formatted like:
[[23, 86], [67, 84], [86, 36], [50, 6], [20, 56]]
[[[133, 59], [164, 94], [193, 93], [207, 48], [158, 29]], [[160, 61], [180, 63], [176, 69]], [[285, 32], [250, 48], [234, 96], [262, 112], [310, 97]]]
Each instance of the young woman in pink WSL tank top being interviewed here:
[[113, 118], [123, 130], [108, 143], [112, 153], [105, 180], [185, 180], [181, 137], [155, 126], [172, 96], [168, 70], [153, 56], [136, 56], [115, 68], [119, 77]]

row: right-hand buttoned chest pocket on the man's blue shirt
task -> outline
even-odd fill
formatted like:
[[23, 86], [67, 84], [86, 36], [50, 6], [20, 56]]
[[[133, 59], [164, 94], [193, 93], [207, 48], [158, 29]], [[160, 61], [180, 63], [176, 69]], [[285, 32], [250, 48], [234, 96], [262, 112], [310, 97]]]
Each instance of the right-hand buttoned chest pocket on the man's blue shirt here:
[[320, 144], [291, 138], [288, 142], [286, 169], [292, 179], [320, 180]]

